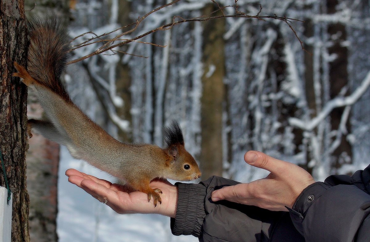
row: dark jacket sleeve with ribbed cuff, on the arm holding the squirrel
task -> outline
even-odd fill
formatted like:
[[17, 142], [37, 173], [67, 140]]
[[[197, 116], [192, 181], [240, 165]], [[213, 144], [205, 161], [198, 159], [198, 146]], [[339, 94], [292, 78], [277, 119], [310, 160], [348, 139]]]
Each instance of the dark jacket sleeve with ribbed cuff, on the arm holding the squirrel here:
[[228, 201], [211, 201], [211, 193], [236, 181], [213, 176], [199, 184], [176, 183], [176, 218], [171, 218], [174, 235], [194, 235], [204, 242], [304, 241], [288, 212]]

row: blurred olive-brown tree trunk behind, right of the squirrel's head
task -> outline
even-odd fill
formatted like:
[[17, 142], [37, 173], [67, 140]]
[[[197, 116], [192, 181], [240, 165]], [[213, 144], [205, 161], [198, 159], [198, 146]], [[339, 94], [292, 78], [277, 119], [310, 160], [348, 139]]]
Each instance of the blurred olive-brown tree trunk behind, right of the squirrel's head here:
[[[208, 5], [203, 14], [215, 10]], [[201, 170], [205, 178], [222, 175], [222, 103], [225, 100], [225, 19], [204, 22], [203, 31], [203, 93], [201, 108]]]

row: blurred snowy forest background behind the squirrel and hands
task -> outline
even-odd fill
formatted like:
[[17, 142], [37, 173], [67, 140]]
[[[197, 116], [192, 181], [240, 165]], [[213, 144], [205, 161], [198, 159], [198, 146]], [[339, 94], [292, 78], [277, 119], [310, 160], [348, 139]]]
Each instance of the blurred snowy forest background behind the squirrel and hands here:
[[[26, 10], [29, 15], [53, 11], [68, 23], [71, 39], [90, 32], [75, 39], [76, 45], [133, 23], [170, 2], [39, 0], [26, 1]], [[64, 79], [71, 98], [123, 142], [162, 146], [162, 127], [178, 120], [185, 147], [199, 162], [203, 179], [221, 175], [248, 182], [266, 176], [265, 171], [245, 164], [243, 155], [248, 150], [298, 164], [316, 180], [366, 167], [370, 143], [369, 1], [239, 0], [237, 4], [238, 10], [248, 15], [258, 14], [262, 6], [260, 16], [301, 21], [292, 20], [288, 25], [271, 18], [218, 18], [175, 25], [140, 39], [165, 48], [131, 42], [68, 65]], [[221, 12], [213, 11], [229, 5], [235, 1], [182, 0], [149, 15], [134, 33], [121, 39], [171, 23], [174, 16], [216, 16]], [[223, 11], [232, 15], [235, 7]], [[78, 48], [72, 59], [102, 45], [97, 42]], [[37, 110], [30, 99], [29, 116]], [[32, 139], [27, 159], [39, 154], [32, 151]], [[63, 147], [61, 162], [55, 165], [51, 162], [55, 149], [53, 146], [44, 156], [46, 163], [38, 160], [27, 166], [33, 241], [197, 241], [172, 236], [168, 218], [117, 215], [68, 184], [67, 168], [110, 181], [114, 178], [73, 160]], [[37, 170], [43, 170], [42, 174], [35, 175]], [[40, 176], [54, 191], [54, 200], [46, 194]], [[43, 236], [38, 237], [37, 232]]]

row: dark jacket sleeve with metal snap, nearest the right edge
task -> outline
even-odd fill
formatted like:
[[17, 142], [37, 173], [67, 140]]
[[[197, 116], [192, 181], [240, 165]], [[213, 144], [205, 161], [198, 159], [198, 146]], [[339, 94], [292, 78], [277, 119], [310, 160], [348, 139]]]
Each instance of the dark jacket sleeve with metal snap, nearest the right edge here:
[[332, 175], [303, 190], [290, 216], [306, 242], [370, 241], [369, 170]]

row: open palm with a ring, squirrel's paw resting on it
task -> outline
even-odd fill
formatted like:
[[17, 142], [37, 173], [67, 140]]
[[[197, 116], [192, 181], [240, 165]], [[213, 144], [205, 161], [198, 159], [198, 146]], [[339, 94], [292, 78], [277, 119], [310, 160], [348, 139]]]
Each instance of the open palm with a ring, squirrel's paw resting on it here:
[[70, 183], [82, 188], [100, 202], [108, 200], [107, 205], [119, 214], [162, 214], [175, 218], [177, 187], [166, 180], [154, 180], [149, 184], [163, 192], [162, 203], [155, 207], [153, 202], [148, 202], [147, 194], [132, 191], [127, 185], [111, 183], [75, 169], [68, 169], [65, 175]]

